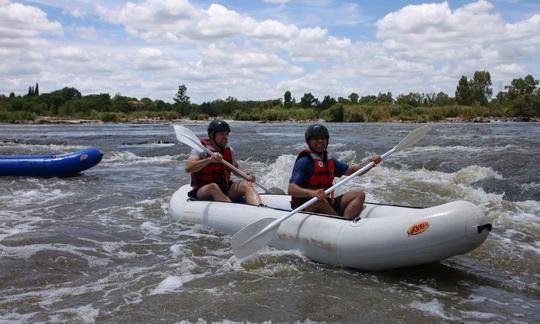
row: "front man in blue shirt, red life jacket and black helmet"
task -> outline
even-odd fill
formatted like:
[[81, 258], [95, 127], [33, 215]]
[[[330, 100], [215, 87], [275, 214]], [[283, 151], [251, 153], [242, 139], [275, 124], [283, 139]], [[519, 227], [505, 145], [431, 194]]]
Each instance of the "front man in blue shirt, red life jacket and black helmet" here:
[[[339, 215], [346, 219], [355, 218], [364, 204], [365, 194], [353, 190], [339, 197], [326, 197], [324, 191], [333, 184], [334, 177], [350, 175], [361, 168], [360, 165], [347, 165], [328, 155], [327, 147], [330, 134], [321, 124], [310, 125], [306, 129], [305, 140], [309, 147], [298, 155], [293, 174], [289, 180], [289, 194], [292, 196], [291, 207], [297, 208], [312, 197], [318, 201], [305, 211], [329, 215]], [[379, 155], [370, 158], [375, 164], [381, 162]]]

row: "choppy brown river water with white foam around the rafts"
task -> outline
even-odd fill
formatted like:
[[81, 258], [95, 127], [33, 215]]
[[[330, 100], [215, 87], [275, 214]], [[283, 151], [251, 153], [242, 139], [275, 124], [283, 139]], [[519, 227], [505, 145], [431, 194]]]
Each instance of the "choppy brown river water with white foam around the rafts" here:
[[[207, 122], [181, 122], [199, 137]], [[304, 123], [231, 122], [240, 166], [286, 190]], [[390, 150], [420, 124], [328, 123], [347, 163]], [[362, 272], [172, 222], [189, 181], [171, 124], [0, 124], [0, 155], [103, 161], [69, 178], [0, 178], [0, 322], [540, 322], [540, 124], [435, 123], [424, 140], [340, 188], [371, 202], [478, 205], [493, 224], [476, 250]]]

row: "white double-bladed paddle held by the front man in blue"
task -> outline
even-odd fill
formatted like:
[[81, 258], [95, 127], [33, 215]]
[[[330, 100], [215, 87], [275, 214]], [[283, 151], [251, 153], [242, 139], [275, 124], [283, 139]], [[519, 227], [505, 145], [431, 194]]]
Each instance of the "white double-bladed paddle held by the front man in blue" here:
[[[404, 149], [406, 147], [409, 147], [418, 143], [422, 138], [426, 136], [426, 134], [429, 132], [430, 129], [431, 128], [429, 126], [422, 126], [420, 128], [413, 130], [404, 139], [402, 139], [398, 145], [394, 146], [394, 148], [392, 148], [390, 151], [381, 155], [381, 158], [384, 159], [385, 157], [387, 157], [388, 155], [396, 151], [399, 151], [401, 149]], [[375, 166], [375, 163], [370, 162], [363, 168], [355, 171], [354, 173], [345, 177], [343, 180], [339, 181], [332, 187], [326, 189], [324, 193], [327, 195], [330, 194], [332, 191], [336, 190], [339, 186], [345, 184], [346, 182], [351, 180], [353, 177], [359, 174], [366, 173], [374, 166]], [[292, 215], [303, 210], [304, 208], [307, 208], [313, 205], [316, 201], [317, 201], [317, 197], [313, 197], [307, 202], [305, 202], [303, 205], [299, 206], [298, 208], [289, 212], [287, 215], [283, 217], [280, 217], [278, 219], [263, 218], [259, 221], [256, 221], [254, 223], [251, 223], [245, 226], [244, 228], [236, 232], [236, 234], [234, 234], [231, 239], [231, 245], [232, 245], [234, 255], [237, 258], [244, 258], [262, 249], [264, 246], [270, 243], [270, 241], [272, 241], [281, 223], [283, 223]]]

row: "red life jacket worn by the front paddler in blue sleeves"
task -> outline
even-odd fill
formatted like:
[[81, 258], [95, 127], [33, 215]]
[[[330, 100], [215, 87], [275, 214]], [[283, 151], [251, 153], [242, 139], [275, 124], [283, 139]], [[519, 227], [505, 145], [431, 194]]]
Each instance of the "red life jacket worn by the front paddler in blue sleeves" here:
[[[334, 182], [334, 172], [336, 170], [334, 159], [332, 157], [329, 157], [326, 159], [325, 162], [318, 154], [306, 149], [300, 152], [300, 154], [298, 154], [296, 160], [304, 156], [307, 156], [311, 160], [314, 169], [313, 174], [311, 175], [311, 177], [309, 177], [307, 183], [302, 184], [301, 187], [310, 190], [326, 190], [330, 188]], [[333, 198], [334, 195], [332, 193], [332, 199]], [[305, 197], [292, 197], [291, 203], [298, 206], [306, 202], [307, 200], [308, 198]]]

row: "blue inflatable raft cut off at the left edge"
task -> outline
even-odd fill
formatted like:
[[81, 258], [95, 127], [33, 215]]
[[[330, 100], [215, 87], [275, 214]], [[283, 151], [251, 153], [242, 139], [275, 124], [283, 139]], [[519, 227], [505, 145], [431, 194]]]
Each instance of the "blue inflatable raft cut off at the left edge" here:
[[102, 157], [95, 148], [59, 155], [0, 156], [0, 176], [65, 177], [93, 167]]

